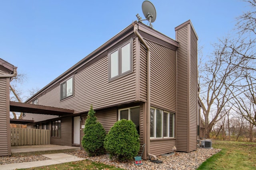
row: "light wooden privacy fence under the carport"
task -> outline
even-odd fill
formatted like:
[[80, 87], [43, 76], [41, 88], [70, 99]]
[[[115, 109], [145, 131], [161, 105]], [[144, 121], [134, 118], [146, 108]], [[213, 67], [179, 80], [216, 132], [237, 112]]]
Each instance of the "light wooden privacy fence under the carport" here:
[[11, 128], [11, 146], [48, 144], [50, 144], [50, 130]]

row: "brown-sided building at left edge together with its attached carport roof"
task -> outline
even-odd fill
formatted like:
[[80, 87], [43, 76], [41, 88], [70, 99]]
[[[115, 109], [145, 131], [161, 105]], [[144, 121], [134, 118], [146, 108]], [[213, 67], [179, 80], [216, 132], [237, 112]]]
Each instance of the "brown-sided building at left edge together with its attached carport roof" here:
[[10, 119], [10, 111], [48, 115], [72, 115], [74, 110], [10, 101], [10, 80], [17, 67], [0, 59], [0, 156], [11, 155], [10, 123], [27, 124], [33, 120]]

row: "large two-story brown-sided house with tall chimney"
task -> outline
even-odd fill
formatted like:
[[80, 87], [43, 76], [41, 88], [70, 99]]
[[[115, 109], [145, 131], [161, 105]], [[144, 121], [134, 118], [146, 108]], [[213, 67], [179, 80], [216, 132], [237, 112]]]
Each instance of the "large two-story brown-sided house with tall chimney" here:
[[74, 114], [26, 113], [28, 127], [50, 129], [51, 144], [80, 147], [93, 105], [106, 132], [131, 119], [150, 156], [196, 150], [198, 37], [190, 20], [175, 31], [176, 41], [135, 21], [26, 101]]

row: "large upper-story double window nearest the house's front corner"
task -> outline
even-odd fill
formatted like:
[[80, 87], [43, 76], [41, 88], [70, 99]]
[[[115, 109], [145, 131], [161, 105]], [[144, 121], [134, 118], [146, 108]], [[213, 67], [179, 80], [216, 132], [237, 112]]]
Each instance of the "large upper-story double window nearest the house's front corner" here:
[[108, 60], [110, 80], [132, 72], [132, 40], [111, 51]]

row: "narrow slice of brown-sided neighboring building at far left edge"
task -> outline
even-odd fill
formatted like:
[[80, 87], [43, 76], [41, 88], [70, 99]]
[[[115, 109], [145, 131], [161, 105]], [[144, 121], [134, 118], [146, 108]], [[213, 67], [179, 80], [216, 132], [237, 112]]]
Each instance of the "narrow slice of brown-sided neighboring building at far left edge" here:
[[0, 59], [0, 156], [11, 155], [10, 79], [17, 67]]

